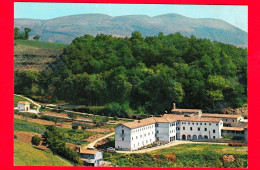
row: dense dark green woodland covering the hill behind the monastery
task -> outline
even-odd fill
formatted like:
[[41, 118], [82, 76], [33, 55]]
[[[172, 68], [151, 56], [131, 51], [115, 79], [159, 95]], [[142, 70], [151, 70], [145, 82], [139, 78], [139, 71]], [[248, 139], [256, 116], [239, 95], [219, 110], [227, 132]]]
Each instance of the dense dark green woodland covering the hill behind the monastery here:
[[[42, 72], [15, 72], [15, 93], [126, 114], [247, 103], [247, 49], [180, 33], [75, 38]], [[117, 116], [123, 116], [117, 115]]]

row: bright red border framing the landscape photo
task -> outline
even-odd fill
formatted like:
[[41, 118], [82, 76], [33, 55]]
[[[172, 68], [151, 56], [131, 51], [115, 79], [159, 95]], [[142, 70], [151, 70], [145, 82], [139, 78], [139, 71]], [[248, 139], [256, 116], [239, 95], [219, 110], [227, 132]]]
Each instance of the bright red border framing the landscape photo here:
[[[260, 169], [260, 119], [257, 117], [258, 101], [260, 101], [260, 14], [257, 0], [1, 0], [0, 6], [0, 169], [113, 169], [112, 167], [45, 167], [14, 166], [13, 156], [13, 94], [14, 94], [14, 2], [71, 2], [71, 3], [136, 3], [136, 4], [197, 4], [197, 5], [248, 5], [248, 106], [249, 106], [249, 142], [248, 169]], [[133, 168], [116, 169], [130, 170]], [[139, 169], [139, 168], [138, 168]], [[159, 168], [141, 168], [142, 170]], [[171, 168], [188, 169], [188, 168]], [[205, 168], [194, 168], [205, 169]], [[210, 168], [220, 169], [220, 168]], [[222, 168], [221, 168], [222, 169]], [[230, 168], [225, 168], [229, 170]], [[239, 169], [239, 168], [238, 168]]]

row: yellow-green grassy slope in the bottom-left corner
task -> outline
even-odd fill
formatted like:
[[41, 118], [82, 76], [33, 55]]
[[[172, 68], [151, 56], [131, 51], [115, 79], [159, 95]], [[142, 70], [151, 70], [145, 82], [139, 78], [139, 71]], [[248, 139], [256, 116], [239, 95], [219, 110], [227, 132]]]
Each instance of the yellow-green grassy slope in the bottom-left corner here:
[[73, 166], [68, 160], [53, 155], [51, 151], [37, 149], [27, 143], [14, 140], [15, 165]]

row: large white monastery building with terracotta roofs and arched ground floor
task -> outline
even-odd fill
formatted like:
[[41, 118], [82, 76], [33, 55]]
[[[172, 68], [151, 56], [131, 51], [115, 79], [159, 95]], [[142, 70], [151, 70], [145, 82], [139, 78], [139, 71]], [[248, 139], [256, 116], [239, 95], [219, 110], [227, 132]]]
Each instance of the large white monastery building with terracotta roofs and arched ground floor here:
[[172, 112], [120, 124], [115, 128], [115, 148], [132, 151], [153, 142], [221, 138], [221, 118], [201, 117], [201, 110], [175, 109], [175, 104]]

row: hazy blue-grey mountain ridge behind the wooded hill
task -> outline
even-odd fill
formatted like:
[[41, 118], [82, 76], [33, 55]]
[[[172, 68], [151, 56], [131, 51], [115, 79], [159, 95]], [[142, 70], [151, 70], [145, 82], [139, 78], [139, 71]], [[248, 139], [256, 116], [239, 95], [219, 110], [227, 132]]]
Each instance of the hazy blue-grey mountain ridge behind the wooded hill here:
[[32, 29], [31, 36], [40, 35], [41, 41], [71, 43], [84, 34], [106, 34], [130, 37], [134, 31], [143, 36], [173, 34], [194, 35], [236, 46], [247, 47], [247, 32], [219, 19], [189, 18], [179, 14], [164, 14], [154, 17], [125, 15], [112, 17], [105, 14], [80, 14], [49, 20], [15, 19], [15, 27]]

